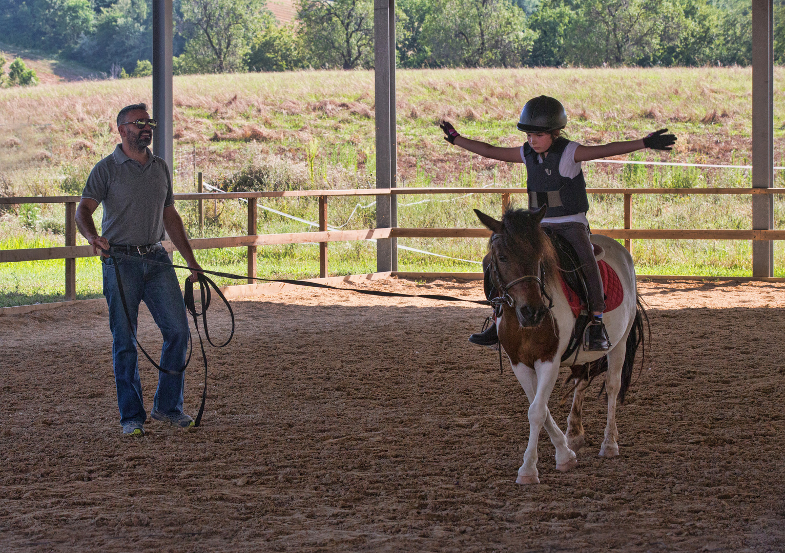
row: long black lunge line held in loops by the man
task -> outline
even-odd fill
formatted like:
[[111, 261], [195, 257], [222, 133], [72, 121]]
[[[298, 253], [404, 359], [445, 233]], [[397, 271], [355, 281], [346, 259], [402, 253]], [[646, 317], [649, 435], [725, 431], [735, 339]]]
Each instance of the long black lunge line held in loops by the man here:
[[[130, 255], [127, 255], [126, 253], [111, 252], [108, 249], [102, 249], [101, 251], [104, 253], [105, 256], [111, 257], [112, 261], [115, 264], [115, 267], [118, 267], [118, 262], [117, 262], [118, 258], [122, 258], [122, 259], [136, 260], [136, 261], [140, 261], [141, 263], [146, 263], [146, 264], [166, 265], [167, 267], [173, 267], [173, 268], [176, 268], [176, 269], [188, 269], [188, 270], [191, 269], [191, 267], [187, 267], [185, 265], [173, 265], [173, 264], [170, 264], [170, 263], [165, 263], [163, 261], [156, 261], [156, 260], [152, 260], [152, 259], [145, 259], [144, 257], [130, 256]], [[361, 293], [361, 294], [367, 294], [367, 295], [370, 295], [370, 296], [382, 296], [382, 297], [422, 297], [422, 298], [425, 298], [427, 300], [463, 301], [463, 302], [468, 302], [470, 304], [488, 305], [487, 300], [466, 300], [465, 298], [444, 296], [444, 295], [441, 295], [441, 294], [405, 294], [405, 293], [400, 293], [400, 292], [384, 292], [382, 290], [361, 290], [361, 289], [357, 289], [357, 288], [338, 288], [338, 286], [330, 286], [329, 284], [322, 284], [321, 282], [309, 282], [307, 280], [295, 280], [295, 279], [290, 279], [290, 278], [258, 278], [258, 277], [250, 277], [248, 275], [234, 275], [232, 273], [225, 273], [225, 272], [221, 272], [221, 271], [207, 271], [206, 269], [201, 269], [196, 274], [196, 278], [197, 278], [197, 281], [199, 282], [199, 292], [200, 292], [201, 300], [202, 300], [202, 311], [199, 311], [199, 312], [196, 311], [196, 304], [195, 304], [195, 301], [194, 301], [193, 282], [192, 282], [190, 277], [185, 278], [185, 282], [184, 282], [185, 291], [184, 291], [184, 294], [183, 294], [183, 300], [185, 301], [185, 308], [188, 309], [188, 313], [190, 313], [192, 318], [194, 319], [194, 326], [196, 327], [196, 334], [197, 334], [197, 336], [199, 336], [199, 347], [202, 350], [202, 360], [204, 362], [204, 388], [203, 388], [203, 391], [202, 391], [202, 405], [199, 406], [199, 414], [196, 415], [196, 420], [195, 420], [195, 423], [194, 423], [195, 427], [198, 427], [202, 423], [202, 415], [204, 413], [204, 405], [205, 405], [206, 398], [207, 398], [207, 356], [205, 355], [205, 351], [204, 351], [204, 343], [203, 343], [203, 340], [202, 340], [202, 333], [199, 332], [199, 317], [202, 317], [202, 323], [204, 325], [204, 335], [205, 335], [207, 341], [210, 343], [211, 346], [213, 346], [213, 347], [225, 347], [225, 346], [227, 346], [229, 344], [229, 342], [232, 341], [232, 337], [234, 337], [234, 335], [235, 335], [235, 314], [234, 314], [234, 311], [232, 311], [232, 306], [229, 304], [229, 302], [226, 299], [226, 297], [224, 296], [224, 294], [221, 293], [221, 289], [218, 288], [217, 284], [215, 282], [213, 282], [213, 280], [211, 278], [209, 278], [206, 275], [204, 275], [204, 273], [209, 273], [210, 275], [216, 275], [216, 276], [220, 276], [220, 277], [224, 277], [224, 278], [235, 278], [235, 279], [238, 279], [238, 280], [243, 280], [243, 279], [250, 278], [252, 280], [260, 280], [260, 281], [264, 281], [264, 282], [283, 282], [284, 284], [294, 284], [294, 285], [297, 285], [297, 286], [311, 286], [312, 288], [327, 288], [327, 289], [331, 289], [331, 290], [341, 290], [341, 291], [344, 291], [344, 292], [347, 292], [347, 291], [348, 292], [356, 292], [356, 293]], [[159, 371], [161, 371], [162, 373], [173, 374], [173, 375], [177, 375], [177, 374], [183, 373], [185, 368], [188, 366], [188, 363], [191, 362], [191, 355], [193, 353], [193, 340], [190, 337], [190, 334], [191, 334], [190, 333], [190, 329], [188, 330], [188, 341], [191, 343], [191, 348], [188, 351], [188, 359], [186, 359], [184, 366], [182, 367], [182, 369], [179, 369], [179, 370], [164, 369], [162, 366], [160, 366], [158, 363], [156, 363], [153, 360], [153, 358], [150, 357], [150, 355], [148, 355], [147, 351], [144, 351], [144, 347], [142, 347], [142, 345], [139, 343], [139, 340], [136, 337], [136, 333], [133, 332], [133, 322], [131, 322], [131, 315], [130, 315], [130, 311], [128, 311], [128, 304], [126, 304], [126, 294], [123, 292], [123, 289], [122, 289], [122, 279], [120, 278], [120, 271], [119, 270], [115, 271], [115, 277], [117, 278], [117, 288], [118, 288], [119, 293], [120, 293], [120, 300], [122, 300], [122, 308], [126, 312], [126, 320], [128, 321], [128, 326], [131, 329], [131, 334], [133, 335], [134, 340], [136, 340], [137, 346], [139, 346], [139, 349], [141, 349], [142, 353], [144, 354], [144, 357], [148, 358], [148, 361], [152, 363], [152, 366], [154, 366], [156, 369], [159, 369]], [[229, 333], [229, 337], [221, 345], [213, 344], [213, 340], [210, 340], [210, 331], [207, 329], [207, 308], [210, 307], [210, 300], [212, 298], [212, 293], [210, 292], [210, 288], [214, 289], [215, 293], [217, 293], [218, 297], [220, 297], [221, 300], [223, 300], [224, 304], [226, 305], [226, 308], [229, 310], [229, 316], [232, 318], [232, 332]]]

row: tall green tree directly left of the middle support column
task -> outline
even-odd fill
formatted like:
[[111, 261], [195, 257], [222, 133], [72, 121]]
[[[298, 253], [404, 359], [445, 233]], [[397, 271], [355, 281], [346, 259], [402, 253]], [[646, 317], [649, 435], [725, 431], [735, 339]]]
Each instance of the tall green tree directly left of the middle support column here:
[[314, 67], [373, 67], [371, 0], [301, 0], [298, 19]]

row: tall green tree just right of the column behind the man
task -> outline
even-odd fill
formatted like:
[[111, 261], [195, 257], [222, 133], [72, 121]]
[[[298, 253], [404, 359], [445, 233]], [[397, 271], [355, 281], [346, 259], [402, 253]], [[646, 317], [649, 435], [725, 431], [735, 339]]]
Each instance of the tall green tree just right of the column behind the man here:
[[242, 70], [254, 36], [272, 24], [264, 0], [189, 0], [182, 13], [186, 65], [198, 72]]

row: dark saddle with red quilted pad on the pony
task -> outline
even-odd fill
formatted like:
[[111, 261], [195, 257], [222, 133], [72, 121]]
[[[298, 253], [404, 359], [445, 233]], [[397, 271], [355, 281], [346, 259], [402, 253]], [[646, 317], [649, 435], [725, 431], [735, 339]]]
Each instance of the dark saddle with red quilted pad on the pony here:
[[[561, 360], [565, 361], [575, 350], [581, 342], [583, 333], [586, 330], [586, 325], [590, 321], [590, 313], [588, 310], [588, 301], [586, 300], [586, 275], [583, 273], [578, 260], [578, 254], [575, 253], [575, 248], [570, 242], [567, 242], [563, 237], [553, 233], [550, 229], [543, 228], [546, 235], [550, 238], [553, 244], [553, 249], [556, 249], [559, 258], [559, 267], [561, 269], [561, 288], [564, 291], [564, 296], [572, 309], [572, 314], [575, 315], [575, 327], [572, 329], [572, 335], [567, 347], [564, 351]], [[601, 246], [593, 244], [594, 246], [594, 259], [597, 260], [597, 265], [600, 267], [600, 275], [602, 277], [602, 285], [605, 296], [605, 310], [604, 312], [613, 311], [616, 307], [622, 304], [624, 300], [624, 289], [622, 283], [619, 281], [619, 275], [616, 271], [602, 260], [605, 256], [605, 251]]]

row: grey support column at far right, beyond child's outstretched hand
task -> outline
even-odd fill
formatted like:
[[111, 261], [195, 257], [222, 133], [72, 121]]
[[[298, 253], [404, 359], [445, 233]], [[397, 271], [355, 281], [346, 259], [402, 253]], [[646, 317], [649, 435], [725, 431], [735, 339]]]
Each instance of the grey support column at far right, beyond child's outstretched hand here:
[[[774, 186], [772, 0], [752, 0], [752, 187]], [[774, 198], [752, 195], [754, 231], [774, 227]], [[752, 241], [752, 275], [774, 275], [774, 242]]]

